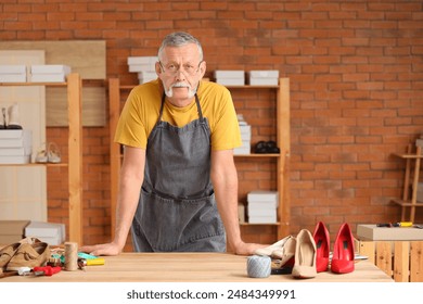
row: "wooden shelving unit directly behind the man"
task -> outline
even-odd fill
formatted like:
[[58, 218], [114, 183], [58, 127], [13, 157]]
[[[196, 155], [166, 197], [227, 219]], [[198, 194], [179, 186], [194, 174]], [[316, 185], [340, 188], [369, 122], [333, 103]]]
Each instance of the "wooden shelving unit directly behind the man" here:
[[[129, 92], [134, 86], [120, 86], [118, 78], [108, 79], [108, 99], [110, 99], [110, 132], [111, 132], [111, 212], [112, 212], [112, 237], [115, 233], [115, 213], [117, 202], [118, 176], [120, 170], [120, 145], [113, 141], [116, 131], [117, 122], [120, 114], [121, 92]], [[277, 224], [262, 224], [278, 226], [278, 239], [290, 233], [291, 203], [290, 203], [290, 79], [280, 78], [279, 86], [227, 86], [231, 89], [242, 90], [277, 90], [277, 143], [280, 148], [279, 154], [248, 154], [235, 155], [236, 159], [247, 157], [253, 162], [260, 159], [277, 159], [277, 178], [279, 208]], [[245, 225], [245, 224], [244, 224]], [[256, 224], [246, 224], [256, 225]]]

